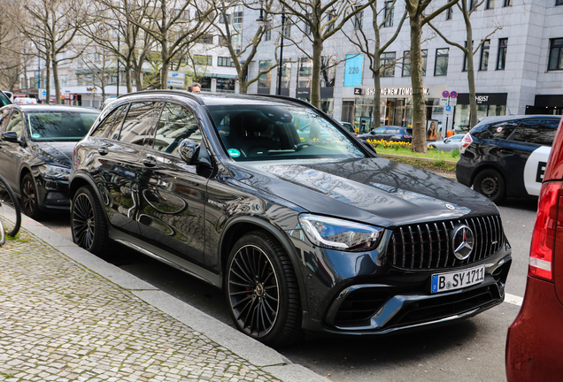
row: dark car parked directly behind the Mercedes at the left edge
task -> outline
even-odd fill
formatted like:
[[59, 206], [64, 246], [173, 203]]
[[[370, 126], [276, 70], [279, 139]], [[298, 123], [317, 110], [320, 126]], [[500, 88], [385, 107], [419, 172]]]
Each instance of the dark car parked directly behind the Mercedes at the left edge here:
[[74, 145], [98, 114], [95, 109], [41, 104], [0, 109], [0, 174], [31, 218], [44, 210], [69, 210]]

